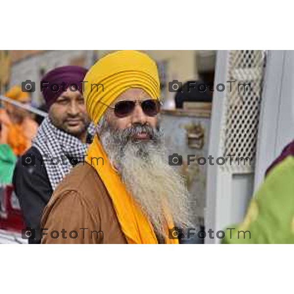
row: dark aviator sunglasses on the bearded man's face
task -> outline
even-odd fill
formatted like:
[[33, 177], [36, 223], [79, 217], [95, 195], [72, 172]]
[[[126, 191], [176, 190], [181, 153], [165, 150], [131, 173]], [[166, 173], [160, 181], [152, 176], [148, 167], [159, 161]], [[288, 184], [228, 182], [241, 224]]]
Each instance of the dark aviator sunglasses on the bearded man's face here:
[[147, 116], [156, 116], [160, 111], [161, 103], [157, 99], [122, 100], [117, 102], [114, 106], [109, 107], [114, 109], [114, 114], [118, 118], [124, 118], [134, 111], [137, 102], [141, 105], [143, 112]]

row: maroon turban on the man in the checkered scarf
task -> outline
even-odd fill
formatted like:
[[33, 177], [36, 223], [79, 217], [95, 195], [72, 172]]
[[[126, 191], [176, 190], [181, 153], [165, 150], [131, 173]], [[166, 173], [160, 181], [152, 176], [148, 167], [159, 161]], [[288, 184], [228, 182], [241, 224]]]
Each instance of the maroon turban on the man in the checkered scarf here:
[[40, 89], [46, 101], [47, 109], [55, 100], [70, 87], [70, 90], [83, 93], [84, 77], [87, 73], [85, 68], [79, 66], [62, 66], [47, 73], [41, 80]]

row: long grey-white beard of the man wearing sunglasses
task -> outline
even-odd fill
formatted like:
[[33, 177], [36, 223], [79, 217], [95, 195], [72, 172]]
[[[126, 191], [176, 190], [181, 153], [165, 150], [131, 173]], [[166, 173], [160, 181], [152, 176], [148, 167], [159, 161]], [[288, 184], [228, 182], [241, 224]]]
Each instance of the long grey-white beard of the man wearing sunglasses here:
[[134, 142], [128, 135], [139, 131], [100, 128], [100, 140], [111, 163], [118, 169], [126, 189], [139, 203], [160, 238], [168, 238], [165, 211], [174, 224], [187, 228], [189, 193], [183, 177], [168, 164], [160, 130], [152, 130], [152, 140]]

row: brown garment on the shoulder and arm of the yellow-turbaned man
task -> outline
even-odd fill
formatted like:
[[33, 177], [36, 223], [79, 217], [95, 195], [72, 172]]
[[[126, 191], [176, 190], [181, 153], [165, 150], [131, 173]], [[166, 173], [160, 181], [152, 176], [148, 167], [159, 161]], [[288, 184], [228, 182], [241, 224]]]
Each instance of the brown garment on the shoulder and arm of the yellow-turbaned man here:
[[41, 228], [44, 244], [127, 243], [111, 198], [87, 163], [74, 167], [58, 185], [44, 209]]

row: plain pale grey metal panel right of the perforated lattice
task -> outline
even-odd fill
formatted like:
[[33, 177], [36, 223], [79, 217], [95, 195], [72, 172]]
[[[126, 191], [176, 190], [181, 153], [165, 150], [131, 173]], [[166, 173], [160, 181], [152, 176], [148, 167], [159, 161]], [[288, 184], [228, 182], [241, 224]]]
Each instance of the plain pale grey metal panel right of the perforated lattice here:
[[258, 131], [254, 190], [294, 139], [294, 51], [269, 50]]

